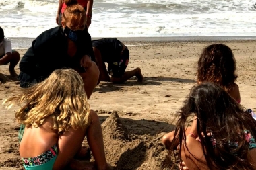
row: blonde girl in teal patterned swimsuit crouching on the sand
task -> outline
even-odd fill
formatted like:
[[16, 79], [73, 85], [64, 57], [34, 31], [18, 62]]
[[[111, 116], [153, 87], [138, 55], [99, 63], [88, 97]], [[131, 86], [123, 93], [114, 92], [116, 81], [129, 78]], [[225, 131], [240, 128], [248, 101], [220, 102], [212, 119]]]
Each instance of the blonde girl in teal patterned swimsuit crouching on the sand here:
[[[57, 69], [24, 93], [6, 99], [21, 108], [15, 118], [20, 132], [20, 157], [25, 169], [111, 169], [106, 163], [102, 128], [90, 110], [81, 76], [73, 69]], [[86, 153], [87, 141], [95, 163], [74, 159]]]

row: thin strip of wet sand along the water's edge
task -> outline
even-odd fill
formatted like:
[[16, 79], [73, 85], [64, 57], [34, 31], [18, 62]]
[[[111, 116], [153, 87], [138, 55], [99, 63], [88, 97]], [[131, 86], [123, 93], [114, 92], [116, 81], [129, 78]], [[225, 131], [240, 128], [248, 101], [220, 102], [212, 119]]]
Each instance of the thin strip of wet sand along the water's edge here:
[[[32, 41], [35, 38], [28, 37], [8, 37], [11, 42], [13, 49], [28, 49]], [[100, 39], [104, 37], [92, 37], [92, 40]], [[133, 45], [137, 43], [170, 43], [170, 42], [254, 42], [256, 36], [168, 36], [168, 37], [116, 37], [122, 42]]]

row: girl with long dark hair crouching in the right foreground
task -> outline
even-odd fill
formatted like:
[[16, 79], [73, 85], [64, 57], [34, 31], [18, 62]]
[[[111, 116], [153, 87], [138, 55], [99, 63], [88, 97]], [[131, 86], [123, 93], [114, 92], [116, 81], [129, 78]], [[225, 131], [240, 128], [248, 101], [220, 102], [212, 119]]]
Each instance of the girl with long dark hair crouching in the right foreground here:
[[[220, 85], [193, 87], [177, 114], [170, 155], [177, 149], [187, 169], [256, 169], [256, 121]], [[186, 132], [191, 116], [196, 134]]]

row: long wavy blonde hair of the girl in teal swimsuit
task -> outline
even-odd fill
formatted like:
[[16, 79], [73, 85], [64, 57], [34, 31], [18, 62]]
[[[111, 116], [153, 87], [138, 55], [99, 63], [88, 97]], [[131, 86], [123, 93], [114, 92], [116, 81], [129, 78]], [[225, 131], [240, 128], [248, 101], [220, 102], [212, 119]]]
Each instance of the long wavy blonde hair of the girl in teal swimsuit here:
[[53, 130], [63, 134], [69, 128], [87, 128], [90, 125], [88, 103], [82, 77], [73, 69], [57, 69], [36, 85], [24, 89], [3, 104], [11, 108], [20, 104], [15, 118], [25, 126], [38, 127], [53, 118]]

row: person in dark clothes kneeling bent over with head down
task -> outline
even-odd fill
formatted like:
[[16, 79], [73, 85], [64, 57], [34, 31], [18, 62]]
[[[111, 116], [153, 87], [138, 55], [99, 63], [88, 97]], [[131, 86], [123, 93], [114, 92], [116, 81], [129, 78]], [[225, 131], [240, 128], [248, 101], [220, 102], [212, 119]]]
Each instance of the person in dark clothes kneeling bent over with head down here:
[[[100, 69], [99, 81], [123, 83], [133, 76], [137, 77], [137, 81], [143, 81], [143, 75], [139, 67], [131, 71], [125, 71], [129, 62], [129, 50], [117, 38], [93, 40], [92, 48]], [[106, 69], [105, 62], [108, 63], [108, 69]]]

